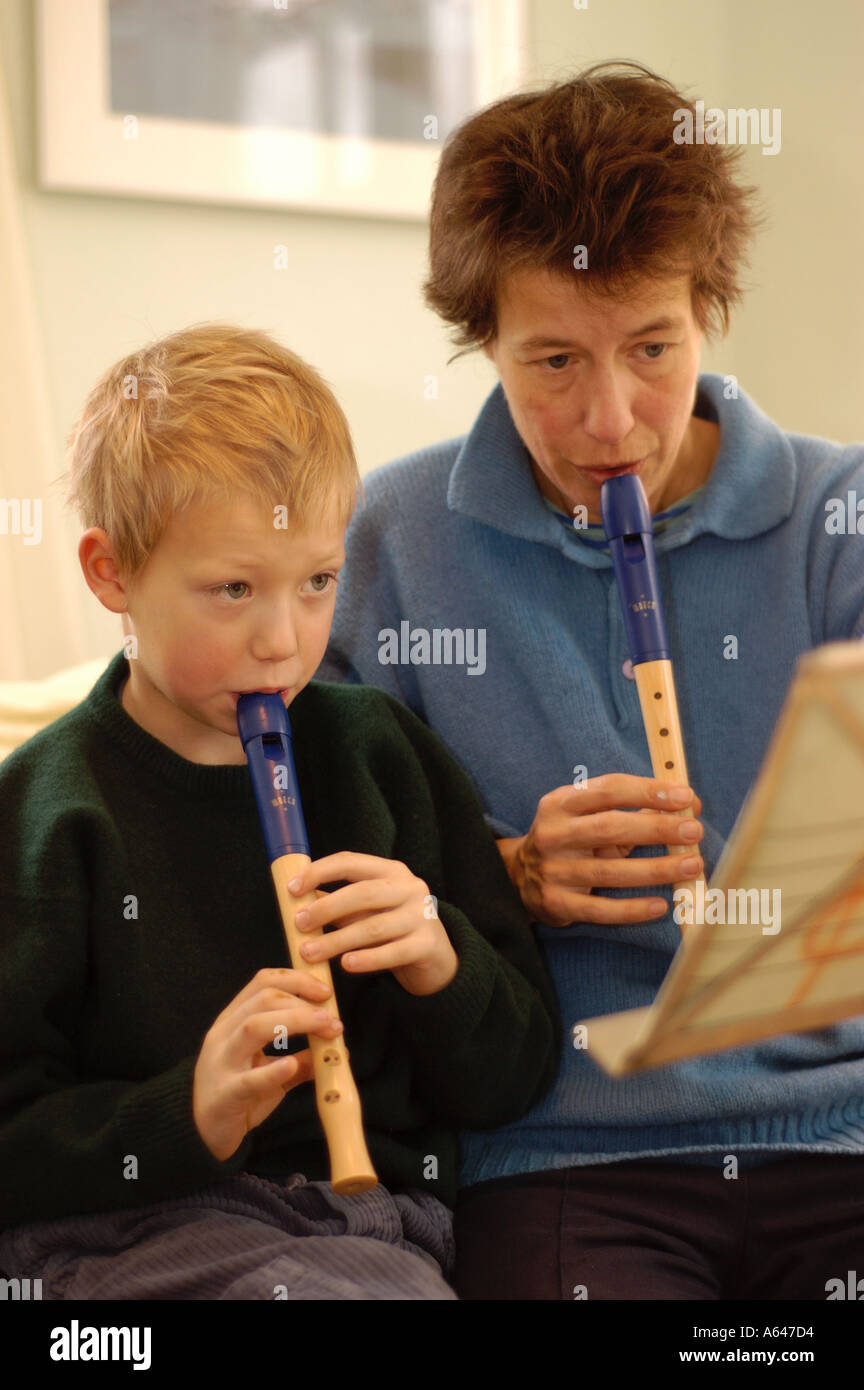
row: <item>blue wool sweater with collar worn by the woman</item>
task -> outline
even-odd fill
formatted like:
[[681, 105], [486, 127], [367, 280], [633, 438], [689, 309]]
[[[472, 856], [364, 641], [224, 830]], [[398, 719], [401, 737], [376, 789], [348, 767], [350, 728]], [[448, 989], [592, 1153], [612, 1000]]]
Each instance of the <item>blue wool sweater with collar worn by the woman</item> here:
[[[864, 499], [864, 446], [788, 434], [743, 392], [725, 399], [724, 379], [703, 373], [695, 406], [721, 427], [713, 471], [656, 539], [706, 878], [796, 657], [864, 632], [864, 538], [826, 524], [829, 499]], [[364, 485], [318, 676], [378, 685], [415, 710], [471, 774], [499, 835], [525, 834], [539, 798], [575, 767], [650, 777], [608, 550], [545, 503], [501, 386], [467, 436]], [[386, 628], [401, 651], [379, 638]], [[431, 631], [428, 652], [418, 628]], [[474, 630], [463, 664], [422, 660], [435, 628]], [[664, 852], [636, 847], [631, 859]], [[654, 998], [681, 941], [672, 887], [660, 894], [670, 912], [654, 923], [539, 929], [565, 1024]], [[801, 1151], [864, 1152], [864, 1016], [626, 1079], [565, 1044], [553, 1090], [524, 1119], [463, 1136], [460, 1182], [726, 1152], [746, 1166]]]

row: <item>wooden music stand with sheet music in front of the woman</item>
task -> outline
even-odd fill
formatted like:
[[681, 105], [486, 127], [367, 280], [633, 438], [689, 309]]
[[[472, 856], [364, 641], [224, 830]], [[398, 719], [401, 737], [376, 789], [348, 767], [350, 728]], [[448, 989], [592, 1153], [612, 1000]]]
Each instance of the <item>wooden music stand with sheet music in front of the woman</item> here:
[[[726, 910], [688, 926], [654, 1002], [579, 1024], [611, 1076], [864, 1013], [864, 642], [799, 657], [715, 888]], [[726, 922], [776, 888], [779, 930]]]

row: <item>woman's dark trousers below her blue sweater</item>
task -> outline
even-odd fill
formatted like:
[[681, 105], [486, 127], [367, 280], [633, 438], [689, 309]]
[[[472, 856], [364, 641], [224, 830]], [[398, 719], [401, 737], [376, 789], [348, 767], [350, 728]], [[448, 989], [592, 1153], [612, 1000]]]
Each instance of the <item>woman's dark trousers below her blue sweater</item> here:
[[595, 1163], [479, 1183], [456, 1208], [460, 1298], [826, 1300], [858, 1279], [864, 1300], [857, 1155], [735, 1179], [720, 1159]]

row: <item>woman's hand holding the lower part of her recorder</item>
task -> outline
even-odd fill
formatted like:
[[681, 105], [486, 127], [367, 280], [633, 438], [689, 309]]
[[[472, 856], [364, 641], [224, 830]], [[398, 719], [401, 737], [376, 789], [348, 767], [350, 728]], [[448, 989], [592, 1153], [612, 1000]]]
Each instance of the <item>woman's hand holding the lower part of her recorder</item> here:
[[[681, 796], [675, 792], [682, 791]], [[640, 812], [621, 808], [631, 806]], [[572, 922], [625, 926], [664, 916], [664, 898], [603, 898], [597, 888], [681, 883], [701, 873], [696, 844], [704, 827], [692, 816], [701, 801], [688, 788], [653, 777], [608, 773], [576, 787], [557, 787], [542, 796], [526, 835], [499, 840], [507, 873], [536, 922], [567, 927]], [[678, 812], [678, 815], [675, 815]], [[628, 860], [633, 845], [693, 844], [693, 856], [665, 855]]]

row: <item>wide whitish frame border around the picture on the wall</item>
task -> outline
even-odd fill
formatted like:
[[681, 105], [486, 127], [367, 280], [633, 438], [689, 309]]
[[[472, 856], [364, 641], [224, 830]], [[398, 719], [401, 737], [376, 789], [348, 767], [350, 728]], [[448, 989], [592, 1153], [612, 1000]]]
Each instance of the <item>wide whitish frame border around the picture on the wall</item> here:
[[[321, 36], [326, 38], [326, 7], [335, 6], [333, 13], [339, 7], [339, 0], [172, 0], [171, 13], [163, 11], [167, 15], [164, 32], [158, 28], [158, 18], [150, 24], [149, 31], [142, 29], [139, 24], [139, 47], [135, 50], [135, 61], [126, 64], [126, 78], [129, 74], [135, 78], [143, 76], [146, 63], [139, 60], [138, 54], [143, 53], [147, 44], [167, 39], [168, 26], [182, 22], [185, 4], [189, 7], [186, 18], [197, 17], [200, 25], [201, 4], [207, 3], [213, 4], [214, 17], [219, 14], [222, 28], [233, 21], [236, 29], [236, 21], [240, 19], [246, 32], [250, 28], [246, 21], [254, 18], [254, 29], [258, 43], [264, 42], [264, 53], [257, 54], [258, 65], [254, 67], [249, 61], [249, 54], [244, 58], [242, 53], [233, 51], [236, 46], [222, 43], [222, 51], [215, 57], [215, 49], [208, 44], [207, 63], [222, 64], [221, 71], [231, 72], [231, 78], [217, 83], [218, 90], [214, 90], [214, 83], [208, 79], [210, 92], [206, 92], [207, 83], [200, 81], [200, 74], [199, 79], [193, 81], [190, 64], [188, 61], [183, 64], [182, 54], [178, 57], [176, 49], [172, 54], [174, 76], [168, 71], [168, 58], [153, 50], [150, 71], [158, 78], [156, 85], [160, 88], [160, 100], [167, 104], [189, 100], [190, 93], [185, 90], [186, 88], [194, 88], [200, 99], [214, 100], [218, 100], [228, 88], [232, 93], [239, 92], [249, 103], [249, 92], [256, 93], [256, 82], [263, 71], [261, 63], [272, 68], [272, 60], [278, 57], [271, 40], [261, 36], [281, 32], [276, 26], [283, 22], [282, 15], [286, 21], [294, 17], [296, 31], [300, 13], [297, 6], [301, 6], [306, 19], [311, 18], [318, 25], [318, 36], [307, 49], [314, 56], [321, 50]], [[431, 58], [422, 50], [418, 56], [417, 47], [411, 49], [411, 53], [415, 71], [418, 74], [432, 71], [439, 83], [439, 96], [443, 93], [442, 100], [445, 104], [449, 103], [451, 110], [460, 106], [460, 95], [465, 107], [465, 92], [470, 85], [467, 108], [451, 122], [458, 124], [470, 111], [517, 89], [524, 79], [525, 0], [369, 0], [371, 6], [376, 4], [385, 10], [389, 7], [394, 18], [401, 17], [404, 21], [406, 15], [413, 15], [415, 31], [421, 33], [426, 22], [422, 7], [429, 6], [429, 17], [440, 21], [442, 3], [445, 7], [454, 7], [454, 11], [461, 7], [470, 19], [470, 50], [468, 53], [464, 47], [460, 50], [460, 71], [463, 78], [470, 74], [470, 82], [464, 81], [460, 92], [454, 95], [454, 64], [449, 61], [451, 50], [446, 47], [431, 50]], [[119, 4], [121, 10], [111, 11], [111, 4]], [[438, 157], [449, 133], [447, 128], [439, 128], [435, 111], [428, 113], [417, 139], [411, 139], [411, 129], [407, 132], [408, 138], [404, 132], [400, 138], [381, 138], [375, 132], [333, 133], [319, 129], [290, 129], [272, 121], [264, 124], [263, 120], [257, 120], [256, 124], [246, 124], [244, 120], [239, 124], [231, 120], [114, 108], [117, 96], [113, 97], [111, 92], [118, 85], [117, 72], [122, 68], [117, 57], [117, 17], [119, 13], [121, 18], [129, 19], [135, 4], [136, 0], [75, 0], [74, 4], [68, 0], [38, 0], [36, 61], [42, 189], [193, 203], [293, 207], [306, 211], [404, 220], [424, 220], [428, 215]], [[319, 8], [313, 13], [314, 6]], [[439, 8], [435, 10], [435, 6]], [[232, 7], [233, 14], [226, 14]], [[363, 8], [368, 15], [369, 7], [365, 0]], [[350, 18], [344, 21], [344, 11], [338, 19], [339, 22], [333, 21], [336, 29], [342, 35], [347, 33], [349, 39], [361, 32], [357, 26], [351, 28]], [[433, 28], [431, 19], [426, 26]], [[289, 31], [282, 32], [288, 35]], [[453, 24], [450, 35], [451, 32]], [[253, 42], [254, 38], [253, 33]], [[178, 28], [178, 44], [189, 42], [189, 35], [183, 35]], [[278, 40], [276, 47], [281, 44], [282, 40]], [[290, 47], [286, 40], [285, 51], [288, 53]], [[353, 47], [357, 50], [358, 43], [354, 42]], [[344, 43], [338, 53], [343, 50], [346, 50]], [[122, 56], [122, 47], [119, 51]], [[243, 71], [244, 61], [246, 71]], [[375, 101], [369, 101], [372, 90], [369, 68], [375, 67], [381, 72], [382, 65], [386, 68], [389, 61], [390, 75], [393, 72], [397, 75], [400, 97], [396, 106], [401, 103], [406, 107], [404, 118], [411, 125], [418, 124], [417, 113], [421, 111], [418, 103], [422, 104], [426, 93], [421, 93], [419, 88], [415, 92], [410, 89], [410, 75], [406, 81], [406, 64], [400, 65], [397, 49], [379, 44], [369, 60], [368, 43], [364, 58], [364, 54], [358, 57], [357, 51], [351, 56], [349, 42], [344, 67], [339, 68], [336, 64], [336, 70], [332, 63], [322, 63], [319, 58], [317, 68], [311, 60], [304, 65], [301, 56], [297, 61], [297, 56], [293, 54], [292, 61], [294, 82], [282, 81], [279, 86], [278, 81], [274, 82], [271, 71], [267, 83], [261, 79], [261, 93], [268, 92], [276, 100], [281, 97], [293, 100], [304, 117], [313, 103], [307, 103], [306, 107], [297, 106], [303, 101], [297, 83], [303, 85], [324, 74], [319, 85], [326, 86], [331, 96], [336, 92], [342, 103], [339, 120], [353, 118], [350, 103], [346, 107], [342, 100], [346, 83], [350, 88], [351, 81], [354, 85], [360, 83], [365, 92], [367, 110], [376, 104], [379, 114], [383, 111], [392, 118], [396, 107], [393, 103], [388, 104], [386, 90], [383, 100], [382, 93], [376, 92]], [[232, 65], [238, 67], [236, 74]], [[410, 68], [410, 64], [407, 67]], [[232, 86], [235, 78], [238, 85]], [[171, 81], [174, 90], [169, 89]], [[251, 104], [256, 106], [254, 96]], [[363, 100], [354, 101], [356, 108], [363, 106]], [[349, 117], [344, 114], [346, 110]]]

